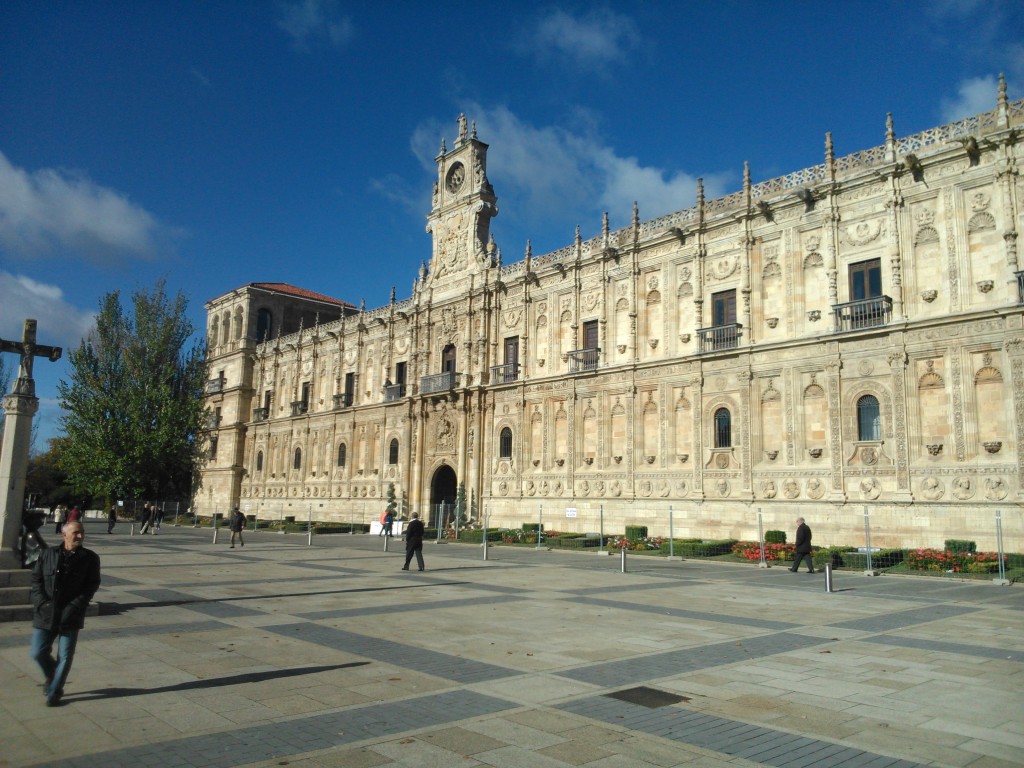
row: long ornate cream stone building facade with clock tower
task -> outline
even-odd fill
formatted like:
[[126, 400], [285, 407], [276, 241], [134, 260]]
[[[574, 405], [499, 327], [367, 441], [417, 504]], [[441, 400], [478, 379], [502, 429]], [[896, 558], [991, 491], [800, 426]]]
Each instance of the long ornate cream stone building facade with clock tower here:
[[197, 508], [1024, 551], [1024, 101], [502, 264], [487, 145], [436, 158], [429, 267], [366, 309], [207, 304]]

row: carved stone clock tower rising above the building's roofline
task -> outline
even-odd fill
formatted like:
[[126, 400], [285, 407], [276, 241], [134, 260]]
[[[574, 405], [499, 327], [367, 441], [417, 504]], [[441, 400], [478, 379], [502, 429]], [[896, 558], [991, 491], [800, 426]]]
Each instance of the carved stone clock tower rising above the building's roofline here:
[[490, 219], [498, 215], [498, 199], [487, 181], [487, 145], [476, 138], [476, 124], [466, 126], [459, 116], [459, 136], [449, 151], [441, 139], [437, 180], [427, 231], [433, 236], [433, 253], [427, 278], [433, 286], [493, 265], [487, 244]]

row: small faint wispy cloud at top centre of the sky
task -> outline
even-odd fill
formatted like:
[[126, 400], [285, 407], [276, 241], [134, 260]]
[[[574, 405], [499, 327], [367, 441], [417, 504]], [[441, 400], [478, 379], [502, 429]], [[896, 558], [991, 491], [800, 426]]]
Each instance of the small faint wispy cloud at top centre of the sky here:
[[621, 60], [640, 40], [632, 18], [607, 8], [581, 15], [554, 9], [537, 20], [528, 37], [521, 51], [567, 58], [583, 68]]

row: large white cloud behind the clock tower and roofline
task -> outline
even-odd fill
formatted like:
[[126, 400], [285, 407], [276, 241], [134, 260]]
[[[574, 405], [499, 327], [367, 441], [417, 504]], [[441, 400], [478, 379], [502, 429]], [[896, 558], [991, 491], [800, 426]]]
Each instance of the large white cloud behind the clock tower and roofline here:
[[[631, 220], [634, 201], [641, 218], [649, 219], [687, 208], [696, 199], [695, 175], [621, 156], [588, 126], [575, 132], [534, 126], [504, 106], [467, 104], [466, 115], [476, 119], [480, 139], [495, 150], [487, 157], [487, 178], [499, 205], [505, 201], [503, 210], [527, 224], [555, 222], [568, 229], [579, 222], [593, 231], [607, 211], [617, 228]], [[453, 131], [431, 123], [414, 133], [413, 150], [425, 168], [433, 170], [442, 133]], [[727, 178], [705, 174], [706, 196], [721, 195]]]

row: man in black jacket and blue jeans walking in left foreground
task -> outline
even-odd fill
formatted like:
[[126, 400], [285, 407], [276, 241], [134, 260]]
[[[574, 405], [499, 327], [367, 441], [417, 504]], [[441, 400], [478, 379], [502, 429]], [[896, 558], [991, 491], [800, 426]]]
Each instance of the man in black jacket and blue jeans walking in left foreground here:
[[[47, 548], [32, 571], [32, 649], [46, 677], [46, 706], [57, 707], [75, 658], [85, 609], [99, 589], [99, 556], [82, 546], [81, 522], [66, 523], [63, 544]], [[53, 642], [57, 657], [53, 658]]]

